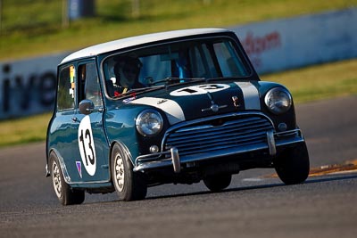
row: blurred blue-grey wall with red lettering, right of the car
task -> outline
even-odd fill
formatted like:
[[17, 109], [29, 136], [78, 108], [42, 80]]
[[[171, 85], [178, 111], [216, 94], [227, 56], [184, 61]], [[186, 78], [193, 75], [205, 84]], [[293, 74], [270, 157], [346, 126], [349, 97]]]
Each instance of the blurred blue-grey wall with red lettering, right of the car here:
[[229, 29], [259, 73], [357, 57], [357, 8]]

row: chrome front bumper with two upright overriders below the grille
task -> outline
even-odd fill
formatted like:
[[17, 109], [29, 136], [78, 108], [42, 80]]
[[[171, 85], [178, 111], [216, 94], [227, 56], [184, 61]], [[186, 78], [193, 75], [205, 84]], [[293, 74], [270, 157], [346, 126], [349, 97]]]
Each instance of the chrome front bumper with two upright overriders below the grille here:
[[201, 152], [185, 156], [179, 156], [179, 150], [174, 147], [170, 148], [170, 151], [167, 152], [138, 156], [135, 160], [135, 168], [133, 170], [145, 172], [146, 170], [154, 168], [173, 167], [175, 173], [179, 173], [181, 171], [181, 166], [187, 163], [193, 163], [202, 160], [212, 160], [215, 158], [261, 150], [268, 150], [270, 156], [273, 157], [276, 155], [278, 147], [304, 142], [304, 138], [300, 129], [278, 133], [270, 130], [266, 133], [266, 138], [267, 140], [265, 143], [229, 148], [215, 152]]

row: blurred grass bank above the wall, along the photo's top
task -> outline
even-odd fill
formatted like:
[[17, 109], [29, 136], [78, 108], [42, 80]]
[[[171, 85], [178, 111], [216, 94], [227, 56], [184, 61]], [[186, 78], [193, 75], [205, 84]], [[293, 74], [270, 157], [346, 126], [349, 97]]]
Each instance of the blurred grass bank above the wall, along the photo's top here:
[[357, 0], [96, 0], [96, 16], [62, 28], [62, 1], [3, 0], [0, 60], [78, 50], [121, 37], [170, 29], [228, 27], [343, 9]]

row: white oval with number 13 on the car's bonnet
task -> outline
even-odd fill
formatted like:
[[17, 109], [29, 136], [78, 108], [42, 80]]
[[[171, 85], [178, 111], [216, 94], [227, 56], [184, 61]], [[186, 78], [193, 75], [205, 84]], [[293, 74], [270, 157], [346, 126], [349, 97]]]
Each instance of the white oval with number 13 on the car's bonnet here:
[[227, 89], [228, 85], [223, 84], [209, 84], [209, 85], [198, 85], [198, 86], [187, 86], [180, 88], [178, 90], [172, 91], [171, 96], [189, 96], [198, 94], [215, 93], [221, 90]]

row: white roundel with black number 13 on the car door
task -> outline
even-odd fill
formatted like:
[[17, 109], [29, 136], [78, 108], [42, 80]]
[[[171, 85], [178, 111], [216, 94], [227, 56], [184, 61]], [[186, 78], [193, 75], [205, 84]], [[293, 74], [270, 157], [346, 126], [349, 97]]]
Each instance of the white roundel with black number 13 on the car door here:
[[96, 168], [95, 141], [93, 140], [92, 127], [90, 126], [88, 115], [80, 121], [78, 140], [80, 157], [84, 167], [90, 176], [94, 176]]

